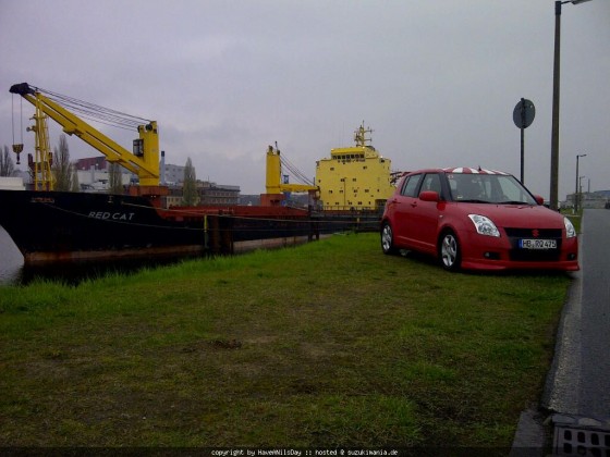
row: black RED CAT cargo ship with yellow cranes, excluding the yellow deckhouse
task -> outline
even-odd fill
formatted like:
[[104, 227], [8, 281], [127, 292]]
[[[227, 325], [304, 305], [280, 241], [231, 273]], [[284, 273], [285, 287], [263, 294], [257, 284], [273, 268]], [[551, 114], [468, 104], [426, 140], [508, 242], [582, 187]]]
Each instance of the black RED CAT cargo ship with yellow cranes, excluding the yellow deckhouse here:
[[[286, 205], [290, 192], [308, 192], [319, 198], [316, 185], [280, 183], [280, 152], [268, 150], [267, 194], [261, 206], [170, 207], [159, 183], [159, 146], [155, 121], [126, 118], [82, 100], [60, 96], [27, 83], [11, 87], [36, 108], [35, 156], [28, 156], [33, 189], [0, 190], [0, 225], [11, 236], [25, 264], [113, 260], [135, 257], [199, 256], [232, 254], [248, 244], [286, 245], [343, 230], [377, 230], [379, 210], [352, 208], [327, 212], [318, 205], [294, 208]], [[139, 137], [129, 151], [69, 110], [70, 103], [86, 116], [100, 112], [105, 120], [131, 123]], [[66, 107], [68, 104], [68, 107]], [[76, 109], [76, 108], [75, 108]], [[137, 175], [139, 185], [129, 195], [59, 192], [51, 172], [52, 155], [47, 119], [58, 122], [69, 135], [76, 135]], [[145, 121], [142, 124], [142, 121]], [[23, 145], [13, 145], [23, 151]]]

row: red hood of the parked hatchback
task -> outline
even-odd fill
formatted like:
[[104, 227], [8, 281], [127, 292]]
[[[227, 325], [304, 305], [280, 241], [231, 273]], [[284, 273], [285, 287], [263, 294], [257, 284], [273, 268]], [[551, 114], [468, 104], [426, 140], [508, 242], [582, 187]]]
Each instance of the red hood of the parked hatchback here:
[[496, 226], [521, 228], [564, 228], [563, 215], [542, 206], [456, 203], [464, 215], [485, 215]]

